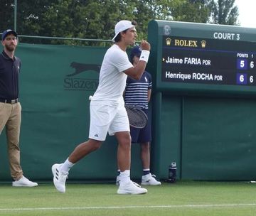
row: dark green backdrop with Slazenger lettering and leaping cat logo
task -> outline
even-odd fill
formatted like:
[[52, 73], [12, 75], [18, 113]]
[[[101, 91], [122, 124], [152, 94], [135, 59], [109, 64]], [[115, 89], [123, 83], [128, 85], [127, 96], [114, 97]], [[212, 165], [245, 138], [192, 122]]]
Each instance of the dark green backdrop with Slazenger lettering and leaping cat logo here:
[[[88, 97], [98, 84], [100, 65], [107, 48], [67, 45], [19, 44], [22, 60], [21, 165], [28, 178], [50, 180], [50, 167], [64, 161], [88, 137]], [[5, 133], [0, 137], [0, 180], [10, 180]], [[102, 148], [70, 171], [70, 180], [114, 180], [117, 142], [108, 137]], [[134, 146], [132, 177], [142, 173], [139, 149]]]

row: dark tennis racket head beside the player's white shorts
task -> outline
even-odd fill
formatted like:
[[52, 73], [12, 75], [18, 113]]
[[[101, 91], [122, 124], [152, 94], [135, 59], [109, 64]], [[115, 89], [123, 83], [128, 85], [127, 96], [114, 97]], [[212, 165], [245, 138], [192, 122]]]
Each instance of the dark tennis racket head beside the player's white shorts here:
[[146, 113], [142, 109], [138, 107], [134, 107], [129, 104], [125, 104], [124, 107], [127, 110], [130, 126], [133, 126], [139, 129], [142, 129], [146, 126], [148, 122], [148, 118], [146, 116]]

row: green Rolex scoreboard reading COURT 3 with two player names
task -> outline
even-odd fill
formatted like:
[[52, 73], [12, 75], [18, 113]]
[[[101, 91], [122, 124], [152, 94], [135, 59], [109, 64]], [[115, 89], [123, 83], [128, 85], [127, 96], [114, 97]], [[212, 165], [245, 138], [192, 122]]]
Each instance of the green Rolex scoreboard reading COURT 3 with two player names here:
[[149, 72], [156, 90], [256, 95], [256, 30], [151, 21]]

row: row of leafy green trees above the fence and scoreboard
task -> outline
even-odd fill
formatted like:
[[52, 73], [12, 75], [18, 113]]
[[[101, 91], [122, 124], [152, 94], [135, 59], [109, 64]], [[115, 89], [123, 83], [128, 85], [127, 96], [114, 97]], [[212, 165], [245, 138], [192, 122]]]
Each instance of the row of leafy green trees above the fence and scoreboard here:
[[[114, 36], [114, 24], [127, 19], [137, 21], [137, 41], [141, 41], [147, 38], [147, 26], [151, 19], [233, 25], [238, 18], [234, 1], [23, 0], [17, 1], [17, 31], [23, 36], [91, 40], [84, 43], [21, 37], [21, 42], [94, 45], [96, 39], [110, 40]], [[13, 28], [14, 0], [1, 0], [0, 14], [1, 29]]]

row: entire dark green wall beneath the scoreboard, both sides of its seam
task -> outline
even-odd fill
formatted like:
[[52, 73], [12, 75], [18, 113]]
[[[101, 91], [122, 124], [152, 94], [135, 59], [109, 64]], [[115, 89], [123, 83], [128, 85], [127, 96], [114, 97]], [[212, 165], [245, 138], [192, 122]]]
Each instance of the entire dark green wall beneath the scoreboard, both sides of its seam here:
[[255, 99], [159, 95], [154, 156], [161, 178], [171, 161], [182, 179], [256, 178]]

